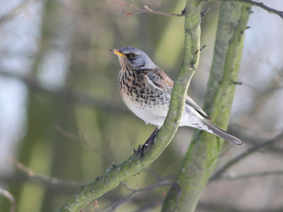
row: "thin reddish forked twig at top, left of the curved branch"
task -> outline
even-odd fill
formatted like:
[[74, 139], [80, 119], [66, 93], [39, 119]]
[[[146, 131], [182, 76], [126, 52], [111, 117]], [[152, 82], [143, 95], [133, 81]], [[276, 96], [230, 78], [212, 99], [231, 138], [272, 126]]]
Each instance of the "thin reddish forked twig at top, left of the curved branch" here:
[[130, 8], [133, 8], [134, 10], [136, 10], [136, 12], [133, 13], [129, 13], [129, 12], [124, 12], [125, 15], [127, 16], [132, 16], [132, 15], [137, 15], [139, 13], [154, 13], [154, 14], [158, 14], [158, 15], [163, 15], [163, 16], [175, 16], [175, 17], [181, 17], [184, 16], [184, 13], [182, 11], [182, 13], [177, 14], [177, 13], [166, 13], [166, 12], [161, 12], [161, 11], [154, 11], [151, 8], [149, 8], [149, 6], [144, 5], [144, 8], [139, 8], [137, 6], [134, 6], [132, 4], [127, 4], [121, 1], [114, 1], [111, 0], [114, 4], [120, 4], [122, 6], [128, 6]]

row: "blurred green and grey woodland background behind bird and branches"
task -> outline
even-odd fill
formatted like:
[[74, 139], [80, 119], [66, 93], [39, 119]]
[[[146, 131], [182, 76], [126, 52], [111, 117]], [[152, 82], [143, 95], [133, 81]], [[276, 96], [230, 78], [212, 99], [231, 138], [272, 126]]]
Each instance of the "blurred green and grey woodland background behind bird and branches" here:
[[[172, 13], [185, 6], [185, 1], [124, 2]], [[283, 10], [282, 1], [262, 2]], [[204, 4], [211, 8], [202, 20], [202, 45], [207, 47], [188, 91], [198, 105], [209, 78], [219, 5]], [[125, 11], [133, 10], [106, 0], [1, 0], [0, 187], [13, 194], [16, 211], [54, 211], [79, 186], [31, 179], [8, 157], [38, 175], [89, 181], [127, 159], [154, 130], [122, 102], [119, 63], [109, 49], [138, 47], [175, 78], [183, 58], [183, 18], [125, 16]], [[283, 130], [283, 21], [261, 8], [253, 7], [253, 12], [229, 125], [247, 145], [225, 143], [216, 169]], [[193, 132], [180, 128], [166, 151], [125, 183], [141, 189], [173, 179]], [[241, 160], [224, 179], [207, 185], [197, 211], [283, 211], [282, 173], [237, 178], [282, 171], [282, 160], [283, 142]], [[124, 201], [115, 211], [159, 211], [167, 190], [151, 188], [126, 201], [131, 191], [120, 185], [84, 211], [99, 211], [120, 199]], [[0, 196], [0, 211], [10, 208], [8, 199]], [[112, 206], [104, 211], [112, 211]]]

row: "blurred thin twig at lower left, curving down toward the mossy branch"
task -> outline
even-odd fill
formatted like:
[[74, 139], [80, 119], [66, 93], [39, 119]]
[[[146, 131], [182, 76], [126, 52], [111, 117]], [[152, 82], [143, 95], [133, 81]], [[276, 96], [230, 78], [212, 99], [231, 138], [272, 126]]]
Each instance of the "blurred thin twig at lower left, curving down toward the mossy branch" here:
[[40, 181], [44, 184], [53, 184], [53, 185], [59, 184], [59, 185], [63, 185], [63, 186], [78, 187], [78, 186], [81, 186], [82, 184], [88, 183], [88, 182], [78, 182], [78, 181], [72, 181], [72, 180], [57, 179], [57, 178], [54, 178], [54, 177], [48, 177], [46, 175], [40, 175], [40, 174], [33, 172], [33, 170], [30, 170], [28, 167], [23, 165], [23, 163], [19, 163], [18, 161], [13, 160], [13, 158], [10, 158], [10, 157], [7, 157], [7, 158], [8, 158], [8, 160], [11, 161], [11, 163], [13, 163], [13, 165], [16, 165], [18, 170], [23, 172], [25, 175], [27, 175], [31, 179], [35, 179], [35, 180]]

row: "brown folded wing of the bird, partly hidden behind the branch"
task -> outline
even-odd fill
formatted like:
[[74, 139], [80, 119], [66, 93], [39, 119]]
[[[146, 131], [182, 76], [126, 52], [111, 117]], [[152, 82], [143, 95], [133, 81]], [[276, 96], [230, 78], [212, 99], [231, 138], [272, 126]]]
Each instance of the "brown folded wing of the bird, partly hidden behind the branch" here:
[[[149, 70], [146, 74], [146, 78], [152, 86], [166, 91], [171, 94], [174, 82], [171, 78], [161, 69], [157, 68], [154, 70]], [[204, 119], [212, 121], [211, 118], [200, 108], [189, 96], [186, 98], [186, 104], [194, 108]]]

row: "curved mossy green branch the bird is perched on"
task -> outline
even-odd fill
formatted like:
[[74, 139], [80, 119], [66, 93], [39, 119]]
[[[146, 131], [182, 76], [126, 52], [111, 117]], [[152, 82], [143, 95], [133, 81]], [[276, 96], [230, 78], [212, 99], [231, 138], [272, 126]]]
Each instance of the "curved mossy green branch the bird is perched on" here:
[[[178, 129], [180, 118], [185, 107], [187, 88], [192, 75], [197, 69], [200, 57], [200, 6], [194, 0], [187, 0], [185, 12], [185, 55], [183, 64], [175, 80], [170, 106], [166, 120], [154, 139], [154, 145], [144, 151], [142, 160], [139, 153], [134, 153], [127, 160], [112, 165], [105, 174], [90, 184], [81, 187], [80, 191], [71, 196], [57, 211], [79, 211], [93, 199], [117, 187], [117, 185], [135, 175], [143, 167], [152, 163], [171, 142]], [[197, 53], [196, 53], [197, 52]]]

